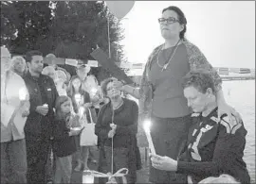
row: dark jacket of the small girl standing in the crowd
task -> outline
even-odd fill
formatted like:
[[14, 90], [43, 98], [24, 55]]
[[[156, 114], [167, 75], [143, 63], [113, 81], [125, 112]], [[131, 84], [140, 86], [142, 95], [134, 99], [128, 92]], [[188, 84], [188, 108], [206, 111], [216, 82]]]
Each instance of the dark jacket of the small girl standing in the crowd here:
[[53, 127], [53, 153], [63, 158], [77, 151], [74, 136], [69, 136], [70, 128], [64, 120], [55, 120]]

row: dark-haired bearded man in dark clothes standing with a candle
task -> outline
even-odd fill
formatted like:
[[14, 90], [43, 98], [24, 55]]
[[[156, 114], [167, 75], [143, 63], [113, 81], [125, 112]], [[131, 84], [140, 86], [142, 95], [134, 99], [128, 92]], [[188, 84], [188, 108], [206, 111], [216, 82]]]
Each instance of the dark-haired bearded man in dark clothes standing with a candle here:
[[53, 108], [58, 96], [53, 80], [42, 75], [43, 54], [29, 51], [26, 55], [29, 72], [24, 80], [30, 99], [30, 114], [24, 128], [27, 145], [27, 182], [46, 183], [46, 159], [52, 137]]

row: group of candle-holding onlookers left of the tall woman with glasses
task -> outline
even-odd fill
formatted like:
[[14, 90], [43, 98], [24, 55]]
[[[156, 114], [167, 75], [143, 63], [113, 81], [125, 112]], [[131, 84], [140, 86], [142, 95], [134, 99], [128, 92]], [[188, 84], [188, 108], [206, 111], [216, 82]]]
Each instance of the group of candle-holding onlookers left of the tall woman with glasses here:
[[[99, 162], [90, 150], [95, 146], [100, 148], [103, 157], [99, 163], [102, 171], [110, 172], [111, 142], [106, 138], [116, 135], [114, 171], [129, 168], [127, 178], [135, 182], [136, 170], [140, 167], [137, 166], [140, 161], [136, 139], [137, 103], [122, 98], [120, 91], [108, 87], [115, 78], [105, 79], [101, 87], [94, 75], [88, 75], [88, 65], [79, 65], [77, 75], [72, 76], [54, 64], [44, 65], [40, 51], [11, 58], [8, 49], [1, 47], [1, 89], [8, 94], [1, 100], [4, 109], [1, 112], [1, 146], [4, 146], [1, 161], [5, 163], [1, 167], [1, 180], [4, 183], [70, 183], [72, 159], [76, 159], [74, 171], [77, 172], [90, 169], [88, 160]], [[25, 99], [20, 99], [21, 92], [25, 93]], [[115, 113], [111, 120], [112, 115], [105, 111], [109, 108]], [[133, 118], [129, 119], [131, 113]], [[115, 127], [108, 133], [109, 121], [114, 122]], [[89, 128], [95, 123], [96, 128]], [[101, 164], [102, 159], [107, 160], [105, 166]], [[120, 160], [117, 162], [117, 159]]]

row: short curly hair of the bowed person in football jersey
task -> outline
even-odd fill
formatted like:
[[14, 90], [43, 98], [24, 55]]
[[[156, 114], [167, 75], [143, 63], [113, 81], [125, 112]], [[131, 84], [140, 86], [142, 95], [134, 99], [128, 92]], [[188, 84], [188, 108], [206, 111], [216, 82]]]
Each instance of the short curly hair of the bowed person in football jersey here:
[[211, 89], [212, 92], [216, 93], [216, 88], [214, 85], [214, 79], [212, 73], [206, 70], [194, 70], [185, 75], [182, 79], [183, 88], [194, 87], [199, 92], [207, 92], [207, 89]]

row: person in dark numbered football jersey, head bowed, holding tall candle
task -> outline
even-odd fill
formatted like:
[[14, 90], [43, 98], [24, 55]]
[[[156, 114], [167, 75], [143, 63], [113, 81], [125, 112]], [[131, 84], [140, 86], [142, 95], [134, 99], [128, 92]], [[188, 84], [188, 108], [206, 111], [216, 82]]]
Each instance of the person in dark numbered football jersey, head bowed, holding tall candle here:
[[[224, 114], [218, 120], [216, 89], [207, 71], [192, 71], [184, 77], [184, 95], [192, 108], [187, 146], [177, 160], [152, 156], [158, 170], [188, 175], [188, 183], [198, 183], [210, 176], [223, 174], [242, 184], [250, 183], [244, 161], [247, 129], [243, 121]], [[167, 147], [167, 149], [169, 149]]]

